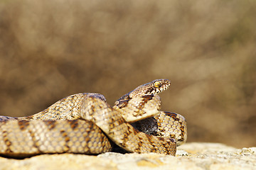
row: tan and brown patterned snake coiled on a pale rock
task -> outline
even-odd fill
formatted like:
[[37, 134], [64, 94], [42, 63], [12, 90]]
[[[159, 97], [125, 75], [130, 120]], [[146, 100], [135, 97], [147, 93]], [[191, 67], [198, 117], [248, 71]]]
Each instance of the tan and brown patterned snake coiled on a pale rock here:
[[171, 81], [156, 79], [124, 94], [114, 106], [95, 93], [73, 94], [26, 117], [0, 116], [0, 154], [101, 154], [115, 146], [126, 152], [169, 154], [186, 142], [186, 120], [159, 111], [159, 93]]

